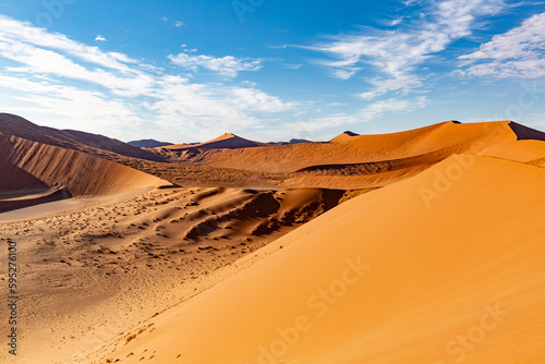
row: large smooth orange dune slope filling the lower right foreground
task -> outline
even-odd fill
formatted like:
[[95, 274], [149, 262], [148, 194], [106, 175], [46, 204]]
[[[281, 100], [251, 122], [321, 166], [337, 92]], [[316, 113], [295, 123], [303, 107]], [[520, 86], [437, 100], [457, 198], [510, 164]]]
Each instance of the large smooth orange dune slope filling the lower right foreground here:
[[542, 168], [450, 157], [280, 238], [110, 357], [542, 363], [544, 183]]

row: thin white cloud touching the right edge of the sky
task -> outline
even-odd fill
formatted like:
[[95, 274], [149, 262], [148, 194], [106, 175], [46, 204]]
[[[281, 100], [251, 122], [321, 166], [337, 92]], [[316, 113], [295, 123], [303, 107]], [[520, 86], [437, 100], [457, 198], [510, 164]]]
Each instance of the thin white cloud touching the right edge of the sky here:
[[545, 13], [533, 15], [522, 25], [496, 35], [477, 51], [461, 56], [465, 70], [477, 77], [534, 78], [545, 75]]

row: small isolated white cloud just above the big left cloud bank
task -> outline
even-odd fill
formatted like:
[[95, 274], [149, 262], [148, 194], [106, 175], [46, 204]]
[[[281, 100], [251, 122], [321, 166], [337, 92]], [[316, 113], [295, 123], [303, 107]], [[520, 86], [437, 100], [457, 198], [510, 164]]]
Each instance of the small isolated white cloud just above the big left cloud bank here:
[[169, 59], [172, 63], [186, 70], [196, 72], [199, 68], [203, 68], [218, 72], [227, 77], [235, 77], [241, 71], [257, 71], [262, 68], [262, 60], [235, 58], [233, 56], [215, 58], [204, 54], [179, 53], [178, 56], [170, 54]]

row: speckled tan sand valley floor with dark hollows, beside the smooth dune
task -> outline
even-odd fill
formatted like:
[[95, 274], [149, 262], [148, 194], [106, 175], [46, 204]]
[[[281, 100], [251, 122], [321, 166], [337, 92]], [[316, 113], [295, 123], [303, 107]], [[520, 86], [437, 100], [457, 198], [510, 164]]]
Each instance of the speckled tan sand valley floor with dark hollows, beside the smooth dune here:
[[143, 320], [211, 287], [213, 271], [229, 272], [241, 256], [350, 197], [185, 187], [80, 198], [73, 211], [33, 216], [58, 203], [45, 204], [26, 211], [31, 221], [24, 209], [0, 214], [11, 221], [0, 223], [1, 239], [25, 252], [21, 306], [32, 320], [21, 326], [21, 340], [32, 345], [19, 363], [95, 362], [119, 332], [137, 331]]

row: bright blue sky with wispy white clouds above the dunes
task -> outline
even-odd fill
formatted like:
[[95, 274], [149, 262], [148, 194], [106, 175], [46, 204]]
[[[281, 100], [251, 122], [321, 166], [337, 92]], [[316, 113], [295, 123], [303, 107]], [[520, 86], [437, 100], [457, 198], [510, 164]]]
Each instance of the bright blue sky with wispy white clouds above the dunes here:
[[545, 2], [0, 0], [0, 111], [123, 141], [545, 131]]

